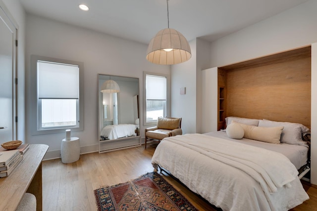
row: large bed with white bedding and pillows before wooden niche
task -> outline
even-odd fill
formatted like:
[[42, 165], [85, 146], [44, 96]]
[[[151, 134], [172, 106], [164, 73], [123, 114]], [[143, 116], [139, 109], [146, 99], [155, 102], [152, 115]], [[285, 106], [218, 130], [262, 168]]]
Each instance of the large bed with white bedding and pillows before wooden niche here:
[[[309, 147], [298, 136], [290, 140], [294, 143], [285, 143], [290, 135], [300, 132], [302, 136], [308, 128], [265, 120], [252, 125], [251, 119], [233, 119], [237, 122], [231, 126], [244, 131], [241, 138], [232, 138], [238, 132], [229, 127], [230, 118], [226, 119], [227, 131], [164, 138], [153, 155], [153, 167], [166, 169], [223, 211], [287, 211], [308, 200], [298, 169], [309, 164]], [[262, 140], [248, 138], [252, 132], [243, 127], [264, 130], [256, 137]], [[272, 137], [279, 135], [280, 143], [263, 140], [271, 136], [269, 130], [278, 130]]]

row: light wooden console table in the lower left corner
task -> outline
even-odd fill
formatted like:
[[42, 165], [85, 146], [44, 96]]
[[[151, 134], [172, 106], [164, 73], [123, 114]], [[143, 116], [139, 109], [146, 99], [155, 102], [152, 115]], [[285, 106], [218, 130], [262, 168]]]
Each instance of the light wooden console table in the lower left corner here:
[[15, 211], [25, 192], [35, 195], [36, 210], [42, 211], [42, 160], [48, 149], [45, 144], [31, 144], [21, 163], [0, 178], [0, 211]]

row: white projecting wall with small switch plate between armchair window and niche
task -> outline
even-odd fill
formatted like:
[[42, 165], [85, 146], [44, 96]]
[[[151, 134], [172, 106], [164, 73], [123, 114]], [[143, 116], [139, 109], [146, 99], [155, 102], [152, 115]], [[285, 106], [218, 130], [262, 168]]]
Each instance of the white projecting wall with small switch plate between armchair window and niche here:
[[[171, 116], [182, 117], [185, 133], [201, 132], [201, 71], [210, 67], [210, 42], [195, 39], [189, 42], [192, 58], [171, 66]], [[180, 95], [180, 87], [186, 94]]]

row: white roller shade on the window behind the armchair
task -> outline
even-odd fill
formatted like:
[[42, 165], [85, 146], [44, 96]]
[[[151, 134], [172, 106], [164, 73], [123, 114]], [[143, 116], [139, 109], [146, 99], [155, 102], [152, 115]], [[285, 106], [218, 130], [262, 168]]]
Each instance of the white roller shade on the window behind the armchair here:
[[166, 100], [166, 78], [147, 75], [147, 100]]

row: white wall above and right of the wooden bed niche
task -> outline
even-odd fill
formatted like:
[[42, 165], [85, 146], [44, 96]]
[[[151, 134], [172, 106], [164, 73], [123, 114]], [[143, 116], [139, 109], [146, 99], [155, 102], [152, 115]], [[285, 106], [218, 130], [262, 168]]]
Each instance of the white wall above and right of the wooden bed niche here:
[[[211, 43], [211, 67], [221, 67], [317, 42], [317, 0], [310, 0]], [[316, 46], [315, 46], [316, 47]], [[312, 142], [316, 139], [316, 68], [312, 68]], [[312, 144], [312, 180], [317, 184], [317, 147]]]

